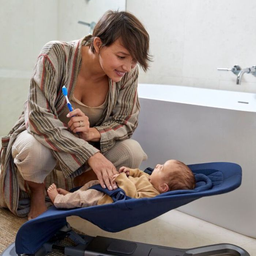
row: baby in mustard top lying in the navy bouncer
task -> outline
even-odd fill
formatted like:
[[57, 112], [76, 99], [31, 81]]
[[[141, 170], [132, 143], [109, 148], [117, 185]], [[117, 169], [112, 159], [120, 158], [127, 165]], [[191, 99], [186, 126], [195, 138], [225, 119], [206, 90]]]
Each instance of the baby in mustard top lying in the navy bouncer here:
[[[167, 191], [195, 188], [195, 177], [192, 171], [187, 165], [177, 160], [168, 160], [163, 165], [158, 164], [151, 175], [139, 169], [123, 166], [119, 169], [119, 174], [113, 176], [113, 180], [127, 196], [133, 198], [154, 197]], [[47, 192], [56, 208], [89, 207], [112, 203], [110, 196], [95, 189], [89, 189], [95, 184], [99, 184], [99, 181], [87, 182], [73, 193], [56, 188], [56, 185], [52, 184]]]

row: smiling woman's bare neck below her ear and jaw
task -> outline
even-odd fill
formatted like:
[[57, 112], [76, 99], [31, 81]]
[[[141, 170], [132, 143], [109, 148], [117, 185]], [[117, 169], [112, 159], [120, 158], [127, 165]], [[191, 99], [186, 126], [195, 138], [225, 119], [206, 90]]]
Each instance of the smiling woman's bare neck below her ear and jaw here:
[[99, 63], [98, 53], [92, 53], [89, 46], [82, 46], [80, 75], [95, 82], [106, 78], [106, 74]]

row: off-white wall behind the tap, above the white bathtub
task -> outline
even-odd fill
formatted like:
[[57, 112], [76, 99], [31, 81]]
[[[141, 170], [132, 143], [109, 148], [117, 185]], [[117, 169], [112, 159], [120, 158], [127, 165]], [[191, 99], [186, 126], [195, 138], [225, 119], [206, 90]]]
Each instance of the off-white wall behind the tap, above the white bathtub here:
[[256, 93], [256, 77], [236, 85], [217, 67], [256, 65], [256, 2], [252, 0], [127, 0], [150, 34], [154, 62], [140, 83], [175, 84]]

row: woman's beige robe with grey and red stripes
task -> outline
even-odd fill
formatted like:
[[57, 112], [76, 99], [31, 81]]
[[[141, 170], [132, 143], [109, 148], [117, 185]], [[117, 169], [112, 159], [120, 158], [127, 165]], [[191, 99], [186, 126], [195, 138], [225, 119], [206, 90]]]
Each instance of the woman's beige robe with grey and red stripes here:
[[[11, 156], [12, 144], [20, 132], [27, 129], [52, 151], [65, 178], [83, 173], [89, 167], [87, 159], [99, 151], [74, 136], [58, 119], [67, 108], [62, 86], [67, 87], [69, 98], [82, 64], [82, 45], [88, 45], [89, 37], [91, 35], [71, 42], [52, 41], [42, 48], [33, 70], [24, 111], [9, 135], [2, 138], [0, 207], [7, 207], [20, 217], [29, 210], [24, 206], [25, 199], [29, 198], [28, 187]], [[120, 82], [109, 79], [108, 104], [95, 125], [101, 133], [101, 153], [112, 148], [116, 140], [130, 138], [137, 127], [140, 110], [137, 86], [138, 67], [126, 73]]]

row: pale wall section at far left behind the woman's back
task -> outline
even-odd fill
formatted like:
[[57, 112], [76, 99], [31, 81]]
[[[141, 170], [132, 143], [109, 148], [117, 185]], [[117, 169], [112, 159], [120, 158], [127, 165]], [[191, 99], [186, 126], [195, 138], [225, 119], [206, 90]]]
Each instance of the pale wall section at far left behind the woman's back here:
[[19, 117], [42, 46], [57, 38], [57, 1], [0, 1], [0, 136]]

